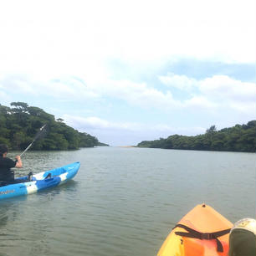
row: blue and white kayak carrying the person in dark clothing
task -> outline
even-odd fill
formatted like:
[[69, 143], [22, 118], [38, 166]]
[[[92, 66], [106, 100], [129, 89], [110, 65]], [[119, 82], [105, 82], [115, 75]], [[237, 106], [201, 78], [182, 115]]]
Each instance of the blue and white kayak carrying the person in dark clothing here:
[[[21, 182], [0, 187], [0, 200], [32, 194], [49, 187], [56, 187], [72, 179], [79, 171], [79, 161], [47, 172], [33, 175], [31, 182]], [[18, 180], [28, 180], [28, 176], [18, 177]]]

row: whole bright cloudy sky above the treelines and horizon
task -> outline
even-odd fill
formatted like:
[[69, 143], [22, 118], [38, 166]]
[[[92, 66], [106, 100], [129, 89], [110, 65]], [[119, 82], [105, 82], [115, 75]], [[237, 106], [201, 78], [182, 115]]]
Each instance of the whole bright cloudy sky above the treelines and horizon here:
[[255, 0], [8, 0], [0, 34], [0, 104], [111, 146], [255, 120]]

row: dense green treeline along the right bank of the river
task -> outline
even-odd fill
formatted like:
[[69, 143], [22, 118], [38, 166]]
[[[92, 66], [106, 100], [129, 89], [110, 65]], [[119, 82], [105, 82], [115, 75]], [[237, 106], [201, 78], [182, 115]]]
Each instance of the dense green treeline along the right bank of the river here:
[[203, 135], [173, 135], [156, 141], [141, 141], [137, 146], [197, 151], [255, 152], [255, 137], [256, 120], [251, 120], [247, 125], [235, 125], [220, 131], [212, 125]]

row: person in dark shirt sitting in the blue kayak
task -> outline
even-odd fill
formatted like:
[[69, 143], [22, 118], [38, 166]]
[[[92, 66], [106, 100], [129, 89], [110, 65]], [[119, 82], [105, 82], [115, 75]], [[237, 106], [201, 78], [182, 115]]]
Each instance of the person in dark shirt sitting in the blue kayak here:
[[28, 180], [15, 180], [14, 172], [11, 168], [22, 168], [23, 162], [20, 156], [16, 156], [16, 161], [8, 158], [8, 146], [1, 144], [0, 145], [0, 186], [19, 183], [19, 182], [28, 182], [31, 180], [31, 177], [28, 177]]

